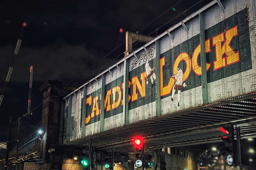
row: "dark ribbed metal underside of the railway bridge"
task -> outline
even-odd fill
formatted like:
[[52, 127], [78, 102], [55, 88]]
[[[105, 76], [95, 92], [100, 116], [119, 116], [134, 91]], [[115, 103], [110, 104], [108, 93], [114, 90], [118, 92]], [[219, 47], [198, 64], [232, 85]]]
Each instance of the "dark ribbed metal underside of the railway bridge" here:
[[143, 136], [146, 150], [219, 142], [219, 127], [232, 124], [240, 127], [241, 138], [256, 137], [256, 93], [232, 97], [207, 105], [167, 113], [151, 119], [114, 128], [73, 140], [62, 146], [83, 146], [92, 138], [92, 147], [130, 153], [132, 138]]

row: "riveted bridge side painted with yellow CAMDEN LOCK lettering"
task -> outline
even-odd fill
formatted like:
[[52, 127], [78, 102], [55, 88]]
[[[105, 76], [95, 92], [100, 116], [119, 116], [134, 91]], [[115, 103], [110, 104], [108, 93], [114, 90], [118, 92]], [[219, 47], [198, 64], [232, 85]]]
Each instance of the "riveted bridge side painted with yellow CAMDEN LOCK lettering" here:
[[[247, 19], [252, 14], [244, 1], [237, 1], [234, 8], [232, 0], [227, 0], [225, 6], [225, 15], [218, 5], [204, 14], [207, 84], [203, 86], [208, 88], [208, 102], [256, 91], [256, 30], [252, 29], [256, 23]], [[76, 91], [67, 96], [62, 104], [64, 142], [155, 117], [157, 80], [161, 114], [202, 105], [199, 18], [185, 25], [188, 30], [180, 26], [171, 31], [173, 40], [162, 35], [158, 48], [155, 42], [146, 45], [146, 50], [140, 48], [126, 58], [126, 64], [123, 60], [105, 71], [104, 79], [100, 76], [81, 88], [81, 94]], [[124, 105], [128, 105], [125, 114]]]

